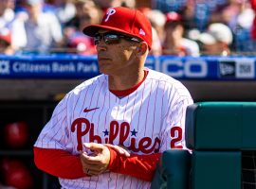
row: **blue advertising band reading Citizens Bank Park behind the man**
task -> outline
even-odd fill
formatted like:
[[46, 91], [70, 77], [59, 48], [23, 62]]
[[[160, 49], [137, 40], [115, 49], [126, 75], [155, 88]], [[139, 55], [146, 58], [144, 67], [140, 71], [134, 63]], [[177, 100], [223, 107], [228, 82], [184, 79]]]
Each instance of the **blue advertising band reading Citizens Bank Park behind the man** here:
[[[178, 79], [254, 80], [255, 60], [245, 57], [150, 56], [145, 66]], [[0, 78], [90, 78], [99, 74], [95, 56], [0, 56]]]

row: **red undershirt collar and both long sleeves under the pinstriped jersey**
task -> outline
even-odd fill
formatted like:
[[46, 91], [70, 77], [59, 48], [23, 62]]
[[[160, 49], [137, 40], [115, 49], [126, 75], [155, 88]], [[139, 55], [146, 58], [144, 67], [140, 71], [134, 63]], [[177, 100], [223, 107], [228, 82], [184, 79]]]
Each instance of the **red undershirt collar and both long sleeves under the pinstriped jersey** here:
[[[111, 93], [117, 96], [132, 94], [143, 83], [148, 75], [144, 71], [143, 79], [136, 86], [128, 90], [114, 91]], [[161, 154], [155, 153], [150, 155], [131, 154], [130, 157], [120, 156], [114, 149], [109, 147], [110, 163], [108, 170], [111, 172], [129, 175], [140, 180], [151, 181], [156, 163], [159, 161]], [[71, 155], [62, 149], [46, 149], [34, 147], [34, 161], [38, 168], [46, 171], [53, 176], [63, 179], [79, 179], [87, 175], [82, 171], [82, 164], [79, 156]], [[136, 170], [136, 171], [135, 171]]]

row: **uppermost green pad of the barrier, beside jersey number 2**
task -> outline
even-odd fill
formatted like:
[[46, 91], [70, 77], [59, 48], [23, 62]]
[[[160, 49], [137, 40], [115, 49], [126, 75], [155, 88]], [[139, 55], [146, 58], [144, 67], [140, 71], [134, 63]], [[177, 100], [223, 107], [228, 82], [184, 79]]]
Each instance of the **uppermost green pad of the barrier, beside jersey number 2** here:
[[188, 107], [186, 145], [192, 149], [255, 149], [256, 102], [199, 102]]

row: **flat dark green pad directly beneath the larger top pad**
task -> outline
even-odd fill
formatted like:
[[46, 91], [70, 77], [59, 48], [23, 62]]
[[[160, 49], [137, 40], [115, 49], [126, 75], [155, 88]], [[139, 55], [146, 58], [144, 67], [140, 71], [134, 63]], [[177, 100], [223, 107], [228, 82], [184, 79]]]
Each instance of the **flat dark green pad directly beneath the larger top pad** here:
[[193, 151], [192, 189], [241, 189], [241, 152]]

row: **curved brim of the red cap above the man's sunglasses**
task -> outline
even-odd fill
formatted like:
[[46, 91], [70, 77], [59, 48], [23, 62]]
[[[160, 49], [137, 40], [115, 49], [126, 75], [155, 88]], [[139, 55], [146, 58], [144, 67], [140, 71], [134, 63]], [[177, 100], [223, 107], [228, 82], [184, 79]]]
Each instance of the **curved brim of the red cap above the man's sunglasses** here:
[[[101, 26], [101, 25], [86, 26], [82, 29], [82, 32], [87, 36], [94, 37], [95, 34], [97, 34], [100, 29], [108, 29], [108, 30], [112, 30], [112, 31], [118, 31], [120, 33], [124, 33], [124, 34], [127, 34], [129, 36], [134, 36], [134, 35], [131, 35], [129, 32], [125, 31], [125, 30], [122, 30], [122, 29], [119, 29], [119, 28], [116, 28], [116, 27], [112, 27], [112, 26]], [[135, 37], [141, 39], [139, 36], [135, 36]], [[141, 39], [141, 40], [143, 40], [143, 39]]]

